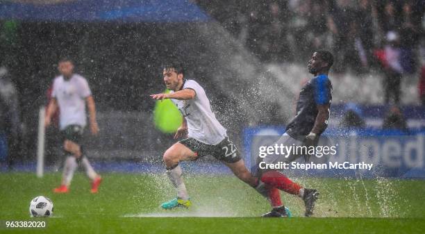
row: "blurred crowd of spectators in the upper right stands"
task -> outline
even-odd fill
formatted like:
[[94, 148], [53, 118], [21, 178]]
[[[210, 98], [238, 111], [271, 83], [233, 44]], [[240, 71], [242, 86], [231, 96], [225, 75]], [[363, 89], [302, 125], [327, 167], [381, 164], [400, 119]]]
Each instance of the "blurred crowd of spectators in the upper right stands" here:
[[263, 61], [305, 62], [311, 51], [328, 49], [333, 72], [381, 70], [385, 103], [399, 104], [403, 74], [424, 63], [423, 0], [197, 2]]

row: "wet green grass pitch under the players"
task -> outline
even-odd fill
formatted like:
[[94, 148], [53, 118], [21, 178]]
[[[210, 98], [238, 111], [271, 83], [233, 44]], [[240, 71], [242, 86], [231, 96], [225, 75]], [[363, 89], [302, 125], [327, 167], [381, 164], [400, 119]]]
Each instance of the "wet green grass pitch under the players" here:
[[[296, 178], [321, 192], [315, 217], [303, 218], [303, 203], [282, 194], [295, 217], [261, 219], [269, 205], [233, 176], [185, 176], [194, 206], [165, 211], [174, 197], [164, 175], [103, 174], [99, 194], [90, 194], [84, 174], [76, 174], [69, 194], [53, 194], [60, 174], [0, 174], [0, 220], [33, 220], [33, 197], [53, 200], [54, 217], [40, 230], [0, 233], [424, 233], [425, 181]], [[38, 220], [38, 219], [37, 219]]]

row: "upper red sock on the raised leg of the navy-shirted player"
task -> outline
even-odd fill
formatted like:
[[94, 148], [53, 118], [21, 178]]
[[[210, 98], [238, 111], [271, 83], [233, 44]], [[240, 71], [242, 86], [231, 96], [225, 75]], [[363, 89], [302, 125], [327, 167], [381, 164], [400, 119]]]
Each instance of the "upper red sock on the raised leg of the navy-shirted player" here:
[[302, 188], [301, 185], [292, 182], [288, 177], [276, 171], [265, 172], [261, 176], [261, 181], [266, 185], [277, 187], [279, 190], [283, 190], [289, 194], [298, 195], [299, 190]]

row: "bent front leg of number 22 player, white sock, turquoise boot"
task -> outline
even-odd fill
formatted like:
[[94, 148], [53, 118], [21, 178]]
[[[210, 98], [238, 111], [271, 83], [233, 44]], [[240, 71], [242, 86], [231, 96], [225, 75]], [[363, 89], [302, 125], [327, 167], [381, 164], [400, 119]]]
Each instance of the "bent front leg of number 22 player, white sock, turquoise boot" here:
[[183, 172], [178, 163], [181, 161], [195, 160], [196, 158], [196, 153], [180, 142], [173, 144], [172, 147], [169, 147], [169, 149], [165, 151], [163, 160], [167, 169], [167, 176], [172, 182], [172, 185], [176, 188], [177, 197], [161, 204], [162, 208], [172, 209], [179, 206], [188, 208], [191, 206], [188, 190], [186, 190], [186, 185], [183, 181]]

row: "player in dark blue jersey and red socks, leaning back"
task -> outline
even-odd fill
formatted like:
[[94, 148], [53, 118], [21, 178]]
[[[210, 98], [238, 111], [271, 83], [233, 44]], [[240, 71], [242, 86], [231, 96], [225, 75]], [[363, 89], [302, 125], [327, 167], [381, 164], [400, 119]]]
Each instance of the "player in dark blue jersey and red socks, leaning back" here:
[[[328, 126], [329, 108], [332, 101], [332, 84], [328, 78], [329, 69], [333, 65], [333, 56], [329, 51], [316, 51], [308, 61], [308, 72], [313, 74], [299, 93], [297, 101], [297, 114], [289, 122], [286, 132], [276, 142], [286, 146], [316, 146], [319, 136]], [[300, 156], [306, 157], [306, 161], [310, 156], [307, 155], [290, 155], [283, 154], [267, 155], [263, 158], [263, 162], [267, 164], [275, 164], [278, 162], [292, 162]], [[276, 170], [259, 169], [258, 176], [267, 186], [277, 187], [280, 190], [299, 196], [306, 206], [305, 215], [310, 217], [313, 215], [315, 201], [318, 198], [317, 190], [309, 190], [301, 185], [294, 183], [288, 177]], [[282, 207], [274, 208], [264, 216], [280, 217], [285, 215], [285, 209]]]

